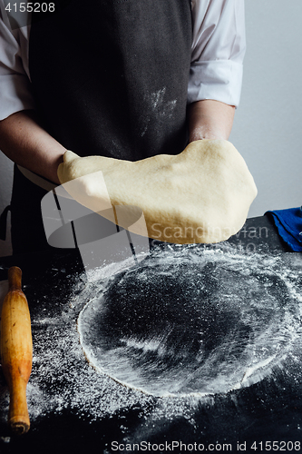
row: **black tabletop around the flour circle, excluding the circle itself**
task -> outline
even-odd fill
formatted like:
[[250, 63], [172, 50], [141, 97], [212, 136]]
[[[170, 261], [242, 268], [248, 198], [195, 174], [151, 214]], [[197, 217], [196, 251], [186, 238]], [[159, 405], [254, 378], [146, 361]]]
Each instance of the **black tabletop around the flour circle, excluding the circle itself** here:
[[[288, 252], [267, 216], [248, 219], [223, 248], [247, 260], [257, 255], [258, 260], [263, 257], [284, 263], [295, 286], [297, 305], [301, 303], [301, 254]], [[219, 250], [219, 245], [207, 249]], [[90, 293], [79, 252], [54, 249], [1, 258], [0, 281], [7, 279], [13, 265], [23, 271], [32, 317], [34, 360], [27, 389], [31, 429], [19, 438], [10, 433], [6, 424], [8, 390], [0, 374], [1, 453], [25, 448], [34, 453], [66, 449], [112, 453], [139, 448], [182, 452], [184, 445], [193, 452], [258, 452], [273, 446], [272, 450], [283, 452], [301, 450], [298, 341], [296, 350], [278, 367], [250, 386], [202, 398], [154, 397], [102, 376], [85, 360], [76, 320]]]

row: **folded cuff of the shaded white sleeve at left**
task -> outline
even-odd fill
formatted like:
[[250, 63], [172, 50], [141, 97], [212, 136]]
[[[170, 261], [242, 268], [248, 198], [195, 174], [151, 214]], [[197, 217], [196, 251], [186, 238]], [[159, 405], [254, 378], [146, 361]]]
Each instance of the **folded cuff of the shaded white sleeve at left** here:
[[34, 98], [26, 75], [7, 74], [0, 76], [0, 121], [11, 114], [34, 109]]

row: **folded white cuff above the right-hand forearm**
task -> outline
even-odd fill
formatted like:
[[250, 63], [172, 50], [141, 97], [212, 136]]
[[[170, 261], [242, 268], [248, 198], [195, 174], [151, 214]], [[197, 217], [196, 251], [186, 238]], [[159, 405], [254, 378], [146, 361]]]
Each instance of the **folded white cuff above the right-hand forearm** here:
[[243, 66], [232, 60], [194, 62], [190, 66], [188, 104], [203, 99], [239, 106]]

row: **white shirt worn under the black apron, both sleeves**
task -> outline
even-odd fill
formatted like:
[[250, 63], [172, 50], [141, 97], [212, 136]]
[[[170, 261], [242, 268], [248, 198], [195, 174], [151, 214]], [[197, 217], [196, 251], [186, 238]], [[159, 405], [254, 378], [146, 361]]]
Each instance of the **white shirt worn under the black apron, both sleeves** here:
[[[191, 0], [191, 13], [188, 103], [213, 99], [238, 106], [246, 50], [244, 0]], [[11, 29], [0, 0], [0, 120], [34, 109], [29, 35], [30, 25]]]

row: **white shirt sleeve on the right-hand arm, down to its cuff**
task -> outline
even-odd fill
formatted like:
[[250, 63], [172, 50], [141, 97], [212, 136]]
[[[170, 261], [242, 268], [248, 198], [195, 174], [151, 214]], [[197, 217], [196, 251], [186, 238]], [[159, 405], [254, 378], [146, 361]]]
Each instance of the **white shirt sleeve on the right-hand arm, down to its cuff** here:
[[239, 105], [246, 50], [244, 0], [192, 0], [188, 103]]

